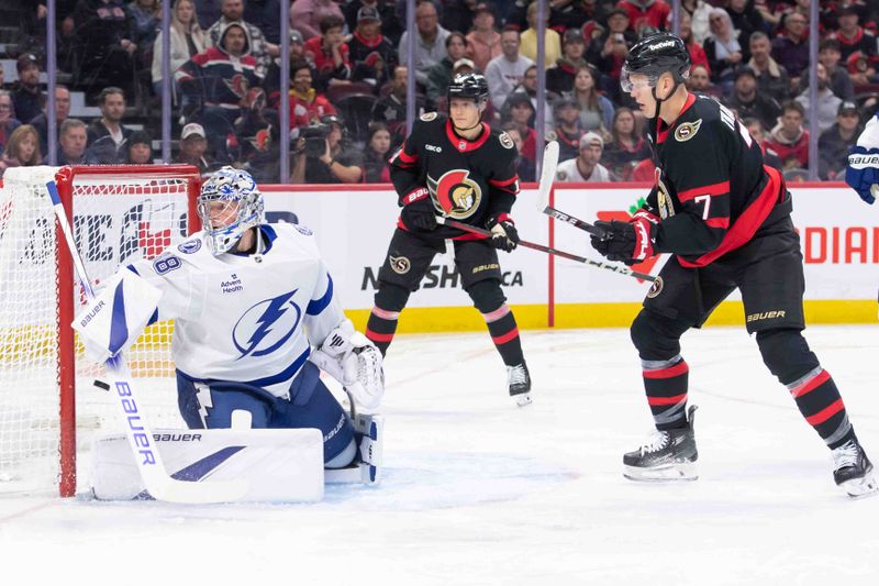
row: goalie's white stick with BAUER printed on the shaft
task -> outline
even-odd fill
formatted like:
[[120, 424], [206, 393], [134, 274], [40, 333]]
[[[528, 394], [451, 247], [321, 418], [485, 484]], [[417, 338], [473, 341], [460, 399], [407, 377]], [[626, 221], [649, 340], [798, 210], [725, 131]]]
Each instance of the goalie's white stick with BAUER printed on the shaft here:
[[[64, 232], [64, 239], [67, 241], [67, 247], [70, 250], [79, 285], [86, 291], [86, 297], [91, 300], [94, 298], [94, 290], [91, 288], [91, 281], [88, 273], [86, 273], [82, 256], [76, 247], [74, 232], [67, 221], [58, 188], [55, 181], [47, 183], [46, 188], [48, 188], [55, 217], [58, 219], [58, 224], [62, 226], [62, 232]], [[230, 502], [238, 500], [247, 493], [248, 483], [245, 480], [193, 483], [177, 480], [168, 476], [158, 447], [153, 439], [153, 432], [140, 411], [134, 394], [134, 382], [122, 355], [119, 354], [108, 360], [105, 367], [110, 378], [110, 386], [113, 389], [111, 392], [113, 392], [121, 409], [122, 419], [126, 422], [125, 435], [129, 440], [129, 446], [134, 455], [134, 461], [137, 463], [137, 468], [141, 472], [146, 489], [156, 500], [193, 504]]]

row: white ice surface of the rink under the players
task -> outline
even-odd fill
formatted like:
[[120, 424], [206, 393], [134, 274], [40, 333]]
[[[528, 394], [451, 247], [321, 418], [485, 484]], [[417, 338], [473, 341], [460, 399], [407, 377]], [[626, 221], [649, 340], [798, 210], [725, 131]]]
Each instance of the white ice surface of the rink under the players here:
[[[879, 458], [879, 327], [815, 327]], [[830, 455], [743, 329], [685, 338], [701, 478], [622, 477], [650, 429], [625, 330], [523, 332], [516, 408], [486, 333], [399, 336], [386, 475], [318, 505], [0, 499], [0, 584], [877, 584], [879, 498]], [[25, 582], [26, 581], [26, 582]]]

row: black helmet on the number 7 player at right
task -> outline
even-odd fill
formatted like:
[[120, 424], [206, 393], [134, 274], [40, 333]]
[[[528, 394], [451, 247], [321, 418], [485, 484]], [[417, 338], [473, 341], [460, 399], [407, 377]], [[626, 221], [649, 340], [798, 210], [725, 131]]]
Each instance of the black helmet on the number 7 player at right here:
[[672, 33], [656, 33], [635, 43], [628, 51], [620, 84], [626, 93], [632, 90], [632, 74], [646, 75], [650, 86], [659, 76], [669, 71], [680, 84], [690, 76], [690, 52], [680, 36]]

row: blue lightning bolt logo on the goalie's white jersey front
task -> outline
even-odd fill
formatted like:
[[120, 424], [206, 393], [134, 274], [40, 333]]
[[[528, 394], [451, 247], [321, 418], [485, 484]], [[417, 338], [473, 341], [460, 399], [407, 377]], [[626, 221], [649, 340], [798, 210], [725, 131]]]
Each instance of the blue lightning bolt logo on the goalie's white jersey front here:
[[244, 312], [232, 330], [232, 343], [245, 356], [271, 354], [287, 342], [302, 319], [302, 309], [293, 302], [293, 290], [259, 301]]

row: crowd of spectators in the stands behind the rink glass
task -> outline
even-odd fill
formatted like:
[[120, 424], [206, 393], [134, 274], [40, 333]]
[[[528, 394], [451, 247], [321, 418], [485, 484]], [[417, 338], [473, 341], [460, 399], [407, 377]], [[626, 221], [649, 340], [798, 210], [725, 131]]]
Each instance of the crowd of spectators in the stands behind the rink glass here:
[[[653, 179], [646, 122], [619, 80], [634, 43], [671, 30], [664, 0], [547, 1], [541, 101], [536, 1], [418, 0], [413, 30], [401, 0], [293, 0], [289, 29], [278, 19], [286, 0], [168, 1], [175, 161], [203, 173], [234, 164], [262, 181], [388, 181], [388, 157], [405, 135], [409, 76], [418, 115], [444, 111], [450, 79], [477, 71], [490, 91], [483, 120], [513, 139], [523, 180], [534, 180], [541, 135], [559, 142], [558, 180]], [[15, 57], [14, 84], [3, 84], [0, 68], [0, 173], [42, 164], [49, 141], [60, 164], [151, 163], [163, 84], [159, 1], [56, 2], [58, 65], [69, 74], [55, 93], [57, 137], [48, 136], [41, 82], [47, 12], [24, 4], [30, 49]], [[733, 110], [789, 180], [808, 175], [810, 132], [820, 136], [820, 177], [838, 178], [879, 103], [879, 0], [822, 1], [817, 31], [809, 27], [810, 4], [681, 0], [679, 11], [690, 91]], [[280, 84], [285, 30], [289, 89]], [[808, 119], [812, 34], [820, 36], [815, 120]], [[100, 117], [70, 118], [71, 90]], [[290, 177], [279, 177], [282, 109]]]

